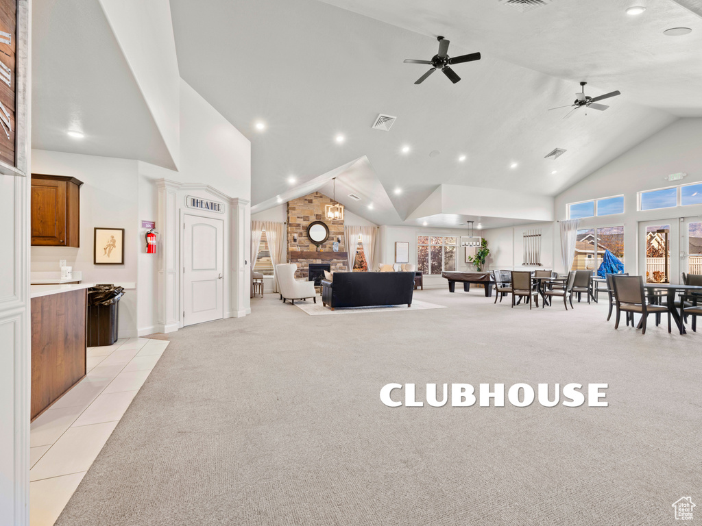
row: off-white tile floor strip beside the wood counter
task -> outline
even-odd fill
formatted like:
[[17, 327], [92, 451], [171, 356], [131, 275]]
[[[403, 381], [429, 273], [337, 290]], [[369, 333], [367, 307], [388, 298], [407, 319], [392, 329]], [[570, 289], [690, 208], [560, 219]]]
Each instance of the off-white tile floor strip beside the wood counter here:
[[86, 377], [32, 422], [32, 526], [53, 526], [166, 346], [129, 338], [89, 348]]

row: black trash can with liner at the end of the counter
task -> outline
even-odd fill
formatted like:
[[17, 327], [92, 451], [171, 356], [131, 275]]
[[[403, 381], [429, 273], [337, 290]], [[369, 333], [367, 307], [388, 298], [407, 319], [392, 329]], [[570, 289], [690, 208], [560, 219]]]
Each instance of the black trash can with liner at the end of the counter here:
[[124, 289], [114, 285], [88, 288], [88, 347], [117, 342], [117, 312]]

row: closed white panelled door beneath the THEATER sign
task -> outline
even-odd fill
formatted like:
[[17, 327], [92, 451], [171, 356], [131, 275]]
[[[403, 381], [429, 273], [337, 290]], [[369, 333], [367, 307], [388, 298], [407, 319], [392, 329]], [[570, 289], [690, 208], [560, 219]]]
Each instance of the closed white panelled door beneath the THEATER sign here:
[[224, 316], [224, 224], [183, 217], [183, 325]]

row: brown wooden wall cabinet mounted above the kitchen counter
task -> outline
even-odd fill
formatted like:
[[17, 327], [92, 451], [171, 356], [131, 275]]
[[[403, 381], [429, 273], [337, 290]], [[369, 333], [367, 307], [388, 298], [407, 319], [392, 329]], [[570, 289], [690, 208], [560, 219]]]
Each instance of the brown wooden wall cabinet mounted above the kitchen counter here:
[[75, 177], [32, 174], [32, 246], [80, 246], [80, 187]]

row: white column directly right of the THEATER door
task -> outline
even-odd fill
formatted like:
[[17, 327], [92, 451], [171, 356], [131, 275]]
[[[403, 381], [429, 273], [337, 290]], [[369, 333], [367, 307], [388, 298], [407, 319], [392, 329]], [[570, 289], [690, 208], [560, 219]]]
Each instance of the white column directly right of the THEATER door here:
[[251, 281], [251, 201], [234, 198], [232, 208], [231, 247], [231, 311], [240, 318], [251, 313], [249, 282]]

